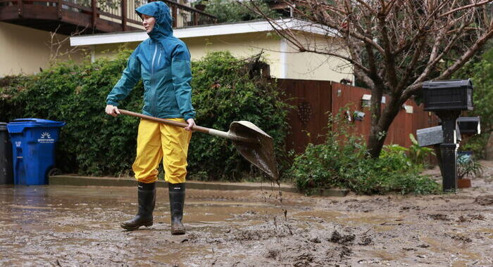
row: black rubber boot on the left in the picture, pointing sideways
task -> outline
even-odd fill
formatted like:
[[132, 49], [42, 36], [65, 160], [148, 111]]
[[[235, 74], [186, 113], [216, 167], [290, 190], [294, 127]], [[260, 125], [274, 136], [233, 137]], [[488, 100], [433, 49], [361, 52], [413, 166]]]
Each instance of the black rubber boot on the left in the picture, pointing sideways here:
[[140, 226], [152, 226], [152, 211], [156, 205], [156, 183], [141, 183], [137, 185], [139, 210], [133, 219], [120, 223], [125, 230], [137, 230]]

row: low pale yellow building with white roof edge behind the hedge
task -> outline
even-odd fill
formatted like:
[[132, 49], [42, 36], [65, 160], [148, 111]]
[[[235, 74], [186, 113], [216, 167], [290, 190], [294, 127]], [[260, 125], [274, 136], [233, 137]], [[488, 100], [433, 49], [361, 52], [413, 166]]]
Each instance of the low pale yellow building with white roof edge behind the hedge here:
[[[320, 39], [321, 44], [327, 44], [325, 32], [306, 22], [284, 19], [277, 23], [298, 32], [300, 37], [309, 34], [312, 38]], [[278, 37], [267, 21], [183, 27], [175, 29], [173, 34], [185, 41], [192, 60], [204, 57], [209, 51], [230, 51], [237, 57], [253, 56], [262, 51], [266, 63], [270, 65], [270, 76], [278, 79], [354, 80], [347, 62], [335, 57], [297, 51], [285, 39]], [[90, 48], [92, 58], [96, 59], [118, 51], [122, 44], [135, 48], [147, 38], [143, 31], [90, 34], [71, 37], [70, 45]]]

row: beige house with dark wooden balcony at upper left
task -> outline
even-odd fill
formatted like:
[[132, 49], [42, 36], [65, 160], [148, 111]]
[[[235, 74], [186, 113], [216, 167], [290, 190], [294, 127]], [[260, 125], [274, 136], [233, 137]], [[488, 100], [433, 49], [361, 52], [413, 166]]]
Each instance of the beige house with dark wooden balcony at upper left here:
[[[177, 1], [170, 6], [174, 27], [212, 24], [216, 18]], [[135, 7], [147, 0], [0, 1], [0, 77], [34, 74], [54, 58], [80, 60], [84, 49], [69, 45], [75, 34], [143, 30]]]

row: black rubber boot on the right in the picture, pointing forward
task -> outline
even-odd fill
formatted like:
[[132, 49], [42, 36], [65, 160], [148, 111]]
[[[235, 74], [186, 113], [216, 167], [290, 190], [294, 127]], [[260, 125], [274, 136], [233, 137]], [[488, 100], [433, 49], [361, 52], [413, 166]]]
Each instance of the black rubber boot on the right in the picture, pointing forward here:
[[185, 234], [183, 206], [185, 206], [185, 183], [168, 183], [170, 189], [171, 234]]

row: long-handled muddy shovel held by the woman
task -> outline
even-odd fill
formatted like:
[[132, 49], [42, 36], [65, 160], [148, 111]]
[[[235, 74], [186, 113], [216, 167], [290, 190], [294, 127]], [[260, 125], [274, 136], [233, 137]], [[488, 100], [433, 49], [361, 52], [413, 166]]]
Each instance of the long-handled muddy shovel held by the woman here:
[[[118, 110], [122, 114], [149, 119], [154, 122], [161, 122], [163, 124], [179, 127], [188, 126], [188, 124], [184, 122], [174, 122], [169, 119], [160, 119], [128, 110]], [[237, 148], [239, 154], [251, 162], [251, 164], [254, 164], [262, 171], [265, 171], [266, 174], [271, 176], [275, 181], [279, 178], [277, 164], [275, 162], [273, 138], [255, 126], [255, 124], [247, 121], [232, 122], [230, 124], [230, 131], [219, 131], [198, 125], [193, 126], [192, 130], [230, 139]]]

